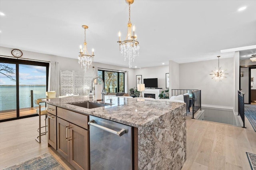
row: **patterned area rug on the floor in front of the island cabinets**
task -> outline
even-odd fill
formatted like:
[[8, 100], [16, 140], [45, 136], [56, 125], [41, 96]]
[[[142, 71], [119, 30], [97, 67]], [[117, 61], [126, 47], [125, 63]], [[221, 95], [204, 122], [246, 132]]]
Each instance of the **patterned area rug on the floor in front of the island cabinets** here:
[[65, 170], [65, 168], [63, 168], [50, 152], [47, 152], [3, 170]]

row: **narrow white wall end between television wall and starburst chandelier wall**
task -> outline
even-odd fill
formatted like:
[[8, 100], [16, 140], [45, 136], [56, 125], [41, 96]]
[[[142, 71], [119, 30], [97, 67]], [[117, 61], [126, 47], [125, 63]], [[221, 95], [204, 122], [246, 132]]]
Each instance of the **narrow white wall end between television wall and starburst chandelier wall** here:
[[170, 89], [180, 89], [180, 65], [172, 60], [169, 61]]

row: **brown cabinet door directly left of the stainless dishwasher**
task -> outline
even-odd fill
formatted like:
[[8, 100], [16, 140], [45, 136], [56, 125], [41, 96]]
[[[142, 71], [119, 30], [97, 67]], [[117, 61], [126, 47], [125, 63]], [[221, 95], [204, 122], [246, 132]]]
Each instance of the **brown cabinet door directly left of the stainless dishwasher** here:
[[69, 162], [77, 170], [89, 169], [89, 132], [70, 123], [70, 158]]

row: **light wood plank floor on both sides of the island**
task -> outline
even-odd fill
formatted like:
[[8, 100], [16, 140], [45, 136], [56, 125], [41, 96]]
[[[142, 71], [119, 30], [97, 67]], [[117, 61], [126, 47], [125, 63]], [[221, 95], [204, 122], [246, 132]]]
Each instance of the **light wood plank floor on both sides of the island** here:
[[[207, 121], [187, 120], [187, 159], [182, 170], [250, 170], [246, 152], [256, 154], [256, 132], [246, 118], [240, 128]], [[0, 169], [51, 152], [66, 169], [72, 168], [58, 152], [36, 142], [38, 117], [0, 123]]]

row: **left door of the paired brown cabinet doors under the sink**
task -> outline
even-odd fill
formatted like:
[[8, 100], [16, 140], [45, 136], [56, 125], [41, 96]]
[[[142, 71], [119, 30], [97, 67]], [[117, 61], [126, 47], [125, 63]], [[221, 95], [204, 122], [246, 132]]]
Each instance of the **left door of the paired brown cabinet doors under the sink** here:
[[69, 123], [63, 119], [57, 118], [57, 151], [68, 160], [69, 142], [68, 138]]

